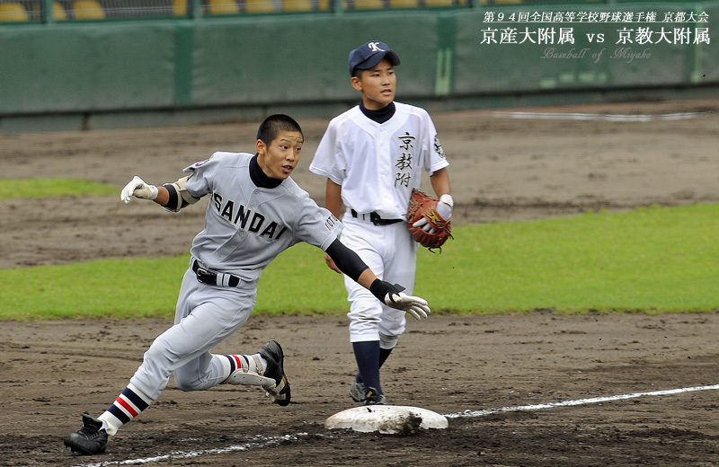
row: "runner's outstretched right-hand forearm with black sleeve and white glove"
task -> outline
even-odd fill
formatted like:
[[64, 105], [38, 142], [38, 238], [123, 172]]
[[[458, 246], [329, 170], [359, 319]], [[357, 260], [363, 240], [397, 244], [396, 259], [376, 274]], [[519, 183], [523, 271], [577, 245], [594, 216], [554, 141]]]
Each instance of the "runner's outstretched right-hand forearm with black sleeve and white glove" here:
[[403, 286], [377, 278], [357, 253], [344, 246], [339, 239], [330, 245], [326, 253], [334, 260], [338, 269], [360, 286], [367, 288], [383, 304], [410, 313], [417, 320], [426, 318], [431, 312], [430, 306], [422, 297], [406, 295], [402, 292]]

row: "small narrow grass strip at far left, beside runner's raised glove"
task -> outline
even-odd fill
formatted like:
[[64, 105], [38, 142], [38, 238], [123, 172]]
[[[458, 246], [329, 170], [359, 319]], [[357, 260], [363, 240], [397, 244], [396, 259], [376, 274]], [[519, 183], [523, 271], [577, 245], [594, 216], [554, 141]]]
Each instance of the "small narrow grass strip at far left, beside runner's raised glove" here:
[[82, 179], [4, 179], [0, 180], [0, 200], [60, 196], [107, 196], [120, 190], [112, 185]]

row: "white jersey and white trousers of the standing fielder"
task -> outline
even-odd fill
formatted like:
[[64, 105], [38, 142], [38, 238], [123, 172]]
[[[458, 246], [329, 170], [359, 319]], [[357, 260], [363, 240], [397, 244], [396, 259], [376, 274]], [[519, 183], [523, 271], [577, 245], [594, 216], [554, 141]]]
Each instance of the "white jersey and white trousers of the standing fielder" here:
[[[404, 219], [412, 189], [420, 188], [422, 169], [430, 175], [448, 166], [437, 130], [426, 110], [395, 102], [384, 123], [369, 119], [359, 105], [330, 121], [310, 171], [342, 186], [342, 203], [359, 214], [377, 212], [383, 219]], [[364, 217], [363, 217], [364, 218]], [[344, 216], [342, 242], [378, 278], [402, 284], [412, 295], [417, 242], [405, 223], [373, 225]], [[381, 304], [345, 277], [350, 301], [350, 340], [380, 340], [394, 348], [404, 333], [404, 312]]]

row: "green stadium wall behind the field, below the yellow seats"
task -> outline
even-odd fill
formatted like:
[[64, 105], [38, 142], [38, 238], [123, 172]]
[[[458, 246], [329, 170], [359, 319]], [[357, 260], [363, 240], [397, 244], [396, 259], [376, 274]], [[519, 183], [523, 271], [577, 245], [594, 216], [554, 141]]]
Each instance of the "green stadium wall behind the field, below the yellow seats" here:
[[[561, 4], [8, 24], [0, 26], [0, 131], [216, 123], [276, 111], [328, 118], [357, 101], [348, 51], [376, 38], [402, 58], [398, 100], [430, 110], [717, 95], [719, 46], [693, 41], [712, 33], [719, 2], [591, 8], [658, 18], [680, 9], [703, 21], [496, 22], [496, 13], [587, 10]], [[502, 43], [507, 27], [528, 32]], [[660, 40], [640, 44], [640, 27]], [[562, 28], [573, 43], [558, 43]], [[554, 38], [539, 43], [540, 29]], [[622, 29], [630, 42], [617, 42]], [[675, 29], [688, 36], [678, 40]]]

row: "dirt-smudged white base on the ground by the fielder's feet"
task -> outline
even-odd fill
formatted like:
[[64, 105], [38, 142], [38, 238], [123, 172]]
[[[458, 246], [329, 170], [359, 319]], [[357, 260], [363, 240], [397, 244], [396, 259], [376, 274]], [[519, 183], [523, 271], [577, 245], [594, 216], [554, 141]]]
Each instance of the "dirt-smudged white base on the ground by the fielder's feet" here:
[[351, 428], [363, 433], [378, 431], [392, 435], [411, 434], [419, 428], [446, 428], [448, 422], [443, 415], [431, 410], [397, 405], [370, 405], [337, 412], [324, 421], [324, 427]]

